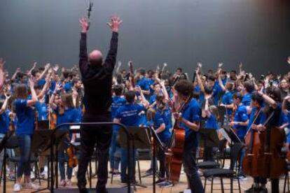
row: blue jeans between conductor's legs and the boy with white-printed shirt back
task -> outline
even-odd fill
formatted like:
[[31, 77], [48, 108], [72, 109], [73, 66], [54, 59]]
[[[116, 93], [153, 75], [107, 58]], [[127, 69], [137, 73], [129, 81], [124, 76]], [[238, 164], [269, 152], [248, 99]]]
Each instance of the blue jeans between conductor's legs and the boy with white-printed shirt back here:
[[116, 157], [116, 153], [120, 152], [120, 147], [117, 141], [118, 134], [119, 134], [118, 131], [113, 131], [110, 148], [110, 166], [111, 169], [115, 170], [119, 169], [120, 164], [120, 158]]

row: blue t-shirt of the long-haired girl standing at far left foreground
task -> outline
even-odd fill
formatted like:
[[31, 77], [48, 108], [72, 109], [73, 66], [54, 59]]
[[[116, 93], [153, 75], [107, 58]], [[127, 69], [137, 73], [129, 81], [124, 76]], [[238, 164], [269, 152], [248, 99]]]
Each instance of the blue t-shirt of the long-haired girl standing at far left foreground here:
[[34, 110], [27, 106], [27, 99], [16, 99], [14, 101], [17, 117], [16, 135], [32, 135], [34, 131]]

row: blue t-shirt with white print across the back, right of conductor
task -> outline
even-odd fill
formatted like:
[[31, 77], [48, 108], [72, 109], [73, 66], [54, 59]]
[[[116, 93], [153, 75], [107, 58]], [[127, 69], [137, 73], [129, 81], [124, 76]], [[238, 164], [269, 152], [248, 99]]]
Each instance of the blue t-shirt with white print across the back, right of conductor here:
[[146, 110], [144, 106], [134, 103], [126, 103], [118, 108], [116, 119], [120, 119], [120, 123], [127, 127], [138, 127], [140, 124], [139, 113]]

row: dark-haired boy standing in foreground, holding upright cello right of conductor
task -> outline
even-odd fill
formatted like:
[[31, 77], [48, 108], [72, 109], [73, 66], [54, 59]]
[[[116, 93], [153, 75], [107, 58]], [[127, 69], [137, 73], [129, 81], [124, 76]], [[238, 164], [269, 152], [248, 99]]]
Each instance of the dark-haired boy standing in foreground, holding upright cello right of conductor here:
[[[180, 113], [174, 113], [180, 127], [185, 129], [186, 138], [184, 143], [184, 171], [191, 187], [191, 192], [205, 192], [202, 187], [198, 168], [195, 165], [195, 152], [198, 148], [198, 131], [200, 129], [201, 108], [196, 99], [193, 99], [193, 83], [180, 80], [174, 85], [175, 99], [179, 103], [188, 101]], [[188, 100], [189, 99], [189, 100]]]

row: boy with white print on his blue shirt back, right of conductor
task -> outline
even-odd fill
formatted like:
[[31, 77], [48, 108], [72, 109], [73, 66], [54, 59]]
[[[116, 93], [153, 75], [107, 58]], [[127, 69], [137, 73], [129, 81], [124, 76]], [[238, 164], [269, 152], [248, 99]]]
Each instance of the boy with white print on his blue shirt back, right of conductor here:
[[[142, 94], [141, 90], [140, 91], [140, 96], [142, 99], [144, 99], [144, 95]], [[116, 111], [115, 118], [113, 122], [116, 123], [122, 123], [127, 127], [139, 127], [140, 124], [140, 119], [139, 119], [139, 113], [141, 113], [142, 110], [146, 110], [146, 107], [141, 104], [135, 104], [135, 98], [136, 94], [134, 91], [130, 90], [125, 92], [125, 99], [126, 103], [123, 106], [120, 106], [118, 110]], [[146, 106], [148, 103], [146, 103], [146, 100], [144, 100], [144, 103]], [[132, 150], [132, 152], [135, 150]], [[136, 155], [136, 154], [135, 154]], [[131, 157], [132, 162], [131, 166], [132, 169], [135, 167], [135, 157]], [[131, 180], [132, 182], [135, 182], [134, 178], [134, 172], [130, 173], [130, 176], [127, 176], [126, 171], [127, 171], [127, 149], [121, 148], [121, 183], [127, 183], [127, 180]]]

